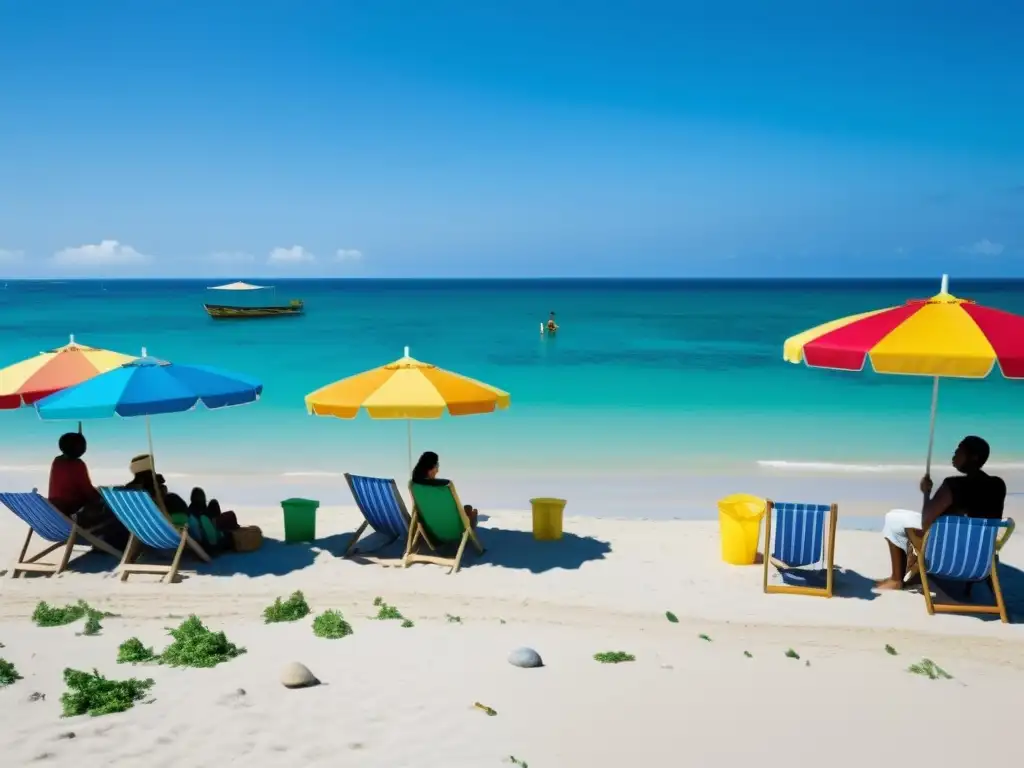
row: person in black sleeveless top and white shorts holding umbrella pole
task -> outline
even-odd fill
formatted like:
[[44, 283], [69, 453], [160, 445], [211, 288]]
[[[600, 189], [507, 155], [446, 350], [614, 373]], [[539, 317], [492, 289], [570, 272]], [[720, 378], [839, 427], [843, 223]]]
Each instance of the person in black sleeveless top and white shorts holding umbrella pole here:
[[942, 515], [966, 515], [1000, 519], [1007, 499], [1007, 483], [1002, 478], [982, 471], [988, 461], [988, 443], [981, 437], [969, 435], [961, 440], [953, 454], [953, 468], [958, 477], [947, 477], [932, 496], [932, 478], [925, 475], [921, 480], [921, 493], [925, 504], [921, 512], [894, 509], [886, 514], [882, 535], [889, 544], [892, 572], [888, 579], [874, 586], [882, 590], [903, 589], [907, 571], [907, 529], [927, 530]]

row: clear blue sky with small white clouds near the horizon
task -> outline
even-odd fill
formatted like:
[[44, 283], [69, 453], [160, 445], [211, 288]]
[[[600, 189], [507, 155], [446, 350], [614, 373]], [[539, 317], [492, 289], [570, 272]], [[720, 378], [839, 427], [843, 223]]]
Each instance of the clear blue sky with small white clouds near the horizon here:
[[1021, 29], [951, 0], [0, 0], [0, 275], [1024, 275]]

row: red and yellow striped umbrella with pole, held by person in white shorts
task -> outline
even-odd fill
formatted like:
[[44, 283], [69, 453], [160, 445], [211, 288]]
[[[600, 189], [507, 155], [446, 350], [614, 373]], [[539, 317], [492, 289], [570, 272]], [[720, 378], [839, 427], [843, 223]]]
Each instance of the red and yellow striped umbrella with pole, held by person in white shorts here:
[[782, 357], [811, 368], [934, 377], [931, 470], [939, 378], [984, 379], [998, 367], [1024, 379], [1024, 317], [975, 304], [949, 293], [949, 279], [930, 299], [831, 321], [785, 340]]

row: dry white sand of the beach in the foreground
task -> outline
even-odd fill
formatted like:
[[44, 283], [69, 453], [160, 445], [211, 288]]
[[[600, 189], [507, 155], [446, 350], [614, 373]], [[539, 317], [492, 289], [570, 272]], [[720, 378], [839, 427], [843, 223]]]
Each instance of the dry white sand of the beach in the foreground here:
[[[278, 510], [241, 517], [282, 537]], [[979, 738], [972, 718], [983, 717], [993, 734], [1020, 720], [1024, 629], [929, 616], [915, 593], [872, 594], [868, 580], [887, 566], [877, 534], [840, 531], [844, 571], [838, 596], [824, 600], [762, 594], [760, 566], [722, 563], [709, 522], [569, 517], [563, 541], [536, 543], [525, 511], [496, 513], [481, 522], [487, 553], [468, 555], [447, 575], [431, 565], [340, 559], [358, 520], [354, 508], [322, 509], [312, 547], [271, 540], [174, 585], [145, 577], [122, 584], [110, 575], [114, 563], [95, 554], [56, 579], [4, 579], [0, 655], [25, 679], [0, 689], [3, 765], [484, 768], [513, 765], [511, 757], [530, 768], [795, 759], [861, 766], [883, 757], [984, 764], [1000, 758], [1005, 740]], [[0, 516], [5, 557], [22, 536], [18, 520]], [[1002, 579], [1018, 613], [1022, 567], [1024, 540], [1011, 540]], [[262, 609], [294, 590], [314, 614], [343, 611], [354, 634], [318, 639], [311, 616], [263, 625]], [[372, 620], [376, 596], [416, 626]], [[78, 599], [119, 615], [96, 637], [77, 636], [81, 625], [30, 621], [39, 600]], [[165, 628], [189, 613], [248, 652], [212, 670], [116, 664], [125, 639], [159, 651], [169, 642]], [[546, 667], [510, 666], [509, 651], [522, 645]], [[799, 660], [786, 657], [790, 648]], [[597, 664], [593, 654], [604, 650], [636, 660]], [[906, 672], [925, 657], [954, 679]], [[293, 660], [325, 685], [282, 687], [280, 670]], [[154, 700], [61, 719], [66, 666], [152, 677]], [[45, 699], [31, 700], [35, 692]], [[477, 701], [498, 715], [474, 709]]]

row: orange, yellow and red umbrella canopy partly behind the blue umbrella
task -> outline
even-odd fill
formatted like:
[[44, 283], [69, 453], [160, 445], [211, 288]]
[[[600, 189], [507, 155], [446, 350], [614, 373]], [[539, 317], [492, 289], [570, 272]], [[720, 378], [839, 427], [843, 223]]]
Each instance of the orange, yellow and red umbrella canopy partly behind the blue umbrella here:
[[31, 406], [47, 395], [120, 368], [134, 357], [75, 343], [0, 369], [0, 410]]

